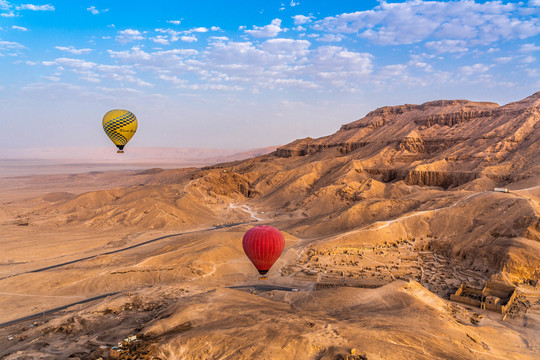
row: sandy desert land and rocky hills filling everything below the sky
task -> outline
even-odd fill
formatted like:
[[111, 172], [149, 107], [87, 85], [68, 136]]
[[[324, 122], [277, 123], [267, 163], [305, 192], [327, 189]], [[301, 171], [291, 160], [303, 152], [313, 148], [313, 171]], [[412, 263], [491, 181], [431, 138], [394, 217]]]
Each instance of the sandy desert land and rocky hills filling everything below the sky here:
[[[536, 93], [385, 107], [202, 168], [1, 177], [0, 356], [136, 335], [113, 356], [539, 359], [539, 150]], [[259, 224], [286, 240], [264, 281]], [[449, 299], [486, 282], [515, 287], [507, 313]]]

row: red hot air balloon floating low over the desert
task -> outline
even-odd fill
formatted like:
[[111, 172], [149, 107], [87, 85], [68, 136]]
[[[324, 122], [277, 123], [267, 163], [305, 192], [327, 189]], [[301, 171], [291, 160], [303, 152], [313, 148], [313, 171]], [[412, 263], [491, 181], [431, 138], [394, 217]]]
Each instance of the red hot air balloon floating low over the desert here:
[[[281, 232], [268, 225], [251, 228], [242, 240], [244, 252], [253, 265], [264, 275], [279, 258], [285, 247], [285, 238]], [[260, 279], [266, 279], [261, 277]]]

